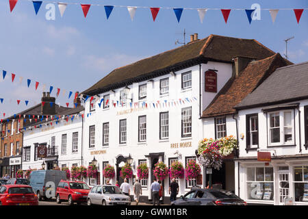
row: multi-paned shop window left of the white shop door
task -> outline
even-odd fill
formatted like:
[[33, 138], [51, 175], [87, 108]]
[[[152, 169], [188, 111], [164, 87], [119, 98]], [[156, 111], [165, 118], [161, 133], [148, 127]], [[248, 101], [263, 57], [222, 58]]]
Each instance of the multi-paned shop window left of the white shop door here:
[[246, 168], [246, 199], [273, 201], [274, 171], [271, 167]]

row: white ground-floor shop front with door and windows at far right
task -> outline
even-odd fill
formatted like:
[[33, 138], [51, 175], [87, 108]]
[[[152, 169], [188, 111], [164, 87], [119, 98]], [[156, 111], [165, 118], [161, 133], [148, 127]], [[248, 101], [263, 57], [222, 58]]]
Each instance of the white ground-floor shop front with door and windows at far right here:
[[308, 205], [308, 159], [240, 161], [240, 197], [247, 203]]

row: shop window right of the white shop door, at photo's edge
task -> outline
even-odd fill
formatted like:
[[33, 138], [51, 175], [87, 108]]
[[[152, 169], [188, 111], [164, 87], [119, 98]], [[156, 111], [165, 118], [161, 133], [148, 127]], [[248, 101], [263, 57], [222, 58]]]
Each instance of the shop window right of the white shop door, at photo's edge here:
[[308, 166], [294, 167], [295, 201], [308, 202]]

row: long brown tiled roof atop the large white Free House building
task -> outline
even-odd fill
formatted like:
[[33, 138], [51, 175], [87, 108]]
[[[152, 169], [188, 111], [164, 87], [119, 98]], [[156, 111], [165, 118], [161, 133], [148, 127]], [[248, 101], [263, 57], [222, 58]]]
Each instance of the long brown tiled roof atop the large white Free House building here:
[[138, 80], [146, 80], [144, 77], [149, 77], [153, 74], [161, 73], [164, 75], [170, 73], [172, 68], [188, 64], [192, 60], [231, 63], [232, 58], [236, 56], [253, 57], [255, 60], [262, 60], [271, 55], [274, 55], [274, 52], [264, 47], [257, 40], [211, 34], [202, 40], [196, 40], [176, 49], [116, 68], [81, 93], [88, 95], [99, 94], [107, 90], [123, 87], [125, 83], [131, 84]]

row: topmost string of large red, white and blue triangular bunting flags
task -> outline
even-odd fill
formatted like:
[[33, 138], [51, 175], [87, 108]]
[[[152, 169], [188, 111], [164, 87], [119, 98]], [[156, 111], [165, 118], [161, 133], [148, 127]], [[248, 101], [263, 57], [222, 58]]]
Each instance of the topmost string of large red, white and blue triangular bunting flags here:
[[[31, 0], [25, 0], [25, 1], [31, 1]], [[9, 0], [10, 3], [10, 12], [15, 8], [16, 3], [18, 0]], [[43, 1], [32, 1], [34, 5], [34, 10], [36, 14], [38, 14], [38, 11], [40, 10], [40, 6], [42, 5]], [[144, 7], [144, 6], [125, 6], [125, 5], [101, 5], [101, 4], [84, 4], [84, 3], [60, 3], [55, 1], [44, 1], [44, 3], [55, 3], [57, 4], [61, 17], [63, 16], [64, 12], [66, 11], [67, 5], [81, 5], [81, 9], [84, 12], [84, 17], [86, 18], [88, 11], [92, 5], [94, 6], [103, 6], [105, 8], [105, 14], [107, 17], [107, 20], [110, 18], [110, 15], [112, 14], [115, 7], [117, 8], [127, 8], [129, 11], [129, 15], [131, 17], [131, 21], [133, 21], [133, 18], [136, 14], [136, 10], [138, 8], [148, 8], [151, 10], [153, 22], [155, 22], [155, 19], [157, 17], [157, 14], [159, 10], [166, 9], [166, 10], [173, 10], [175, 12], [175, 16], [177, 17], [177, 22], [179, 23], [181, 19], [181, 15], [183, 13], [183, 10], [196, 10], [198, 12], [199, 18], [201, 23], [203, 23], [203, 19], [205, 16], [205, 13], [207, 10], [220, 10], [222, 12], [222, 16], [224, 18], [224, 22], [227, 24], [229, 14], [231, 10], [245, 10], [246, 15], [248, 16], [248, 21], [251, 24], [251, 16], [254, 13], [254, 9], [243, 9], [243, 8], [232, 8], [232, 9], [221, 9], [221, 8], [170, 8], [170, 7]], [[296, 16], [296, 21], [299, 23], [300, 17], [303, 14], [304, 10], [308, 10], [308, 8], [302, 8], [302, 9], [294, 9], [294, 8], [280, 8], [280, 9], [267, 9], [267, 8], [261, 8], [259, 10], [268, 10], [270, 12], [270, 15], [272, 17], [272, 21], [274, 23], [277, 13], [279, 10], [294, 10], [294, 14]]]

